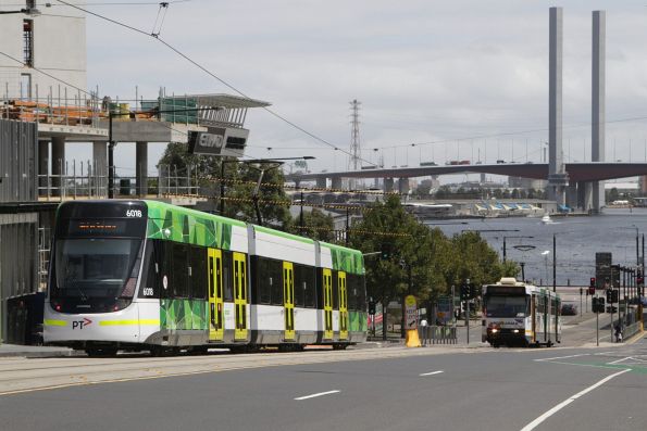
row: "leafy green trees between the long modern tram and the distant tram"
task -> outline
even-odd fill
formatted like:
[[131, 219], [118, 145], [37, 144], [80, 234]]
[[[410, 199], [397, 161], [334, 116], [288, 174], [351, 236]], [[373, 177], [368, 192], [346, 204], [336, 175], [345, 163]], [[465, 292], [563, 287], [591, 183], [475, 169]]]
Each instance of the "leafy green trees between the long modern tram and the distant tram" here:
[[383, 249], [383, 242], [393, 244], [388, 259], [381, 259], [380, 255], [366, 257], [368, 294], [383, 303], [409, 293], [420, 300], [434, 299], [449, 293], [451, 286], [460, 286], [466, 278], [480, 286], [513, 272], [513, 267], [501, 264], [477, 232], [449, 239], [440, 229], [430, 229], [408, 214], [396, 197], [371, 208], [356, 229], [394, 236], [356, 234], [351, 237], [351, 246], [374, 253]]

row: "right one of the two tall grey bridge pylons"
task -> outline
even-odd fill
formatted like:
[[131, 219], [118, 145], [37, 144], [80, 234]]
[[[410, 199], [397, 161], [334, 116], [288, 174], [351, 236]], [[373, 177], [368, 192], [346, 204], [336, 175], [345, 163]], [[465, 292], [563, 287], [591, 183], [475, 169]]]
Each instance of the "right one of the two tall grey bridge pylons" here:
[[[606, 13], [593, 12], [590, 161], [605, 161]], [[593, 212], [605, 206], [605, 182], [593, 182]]]

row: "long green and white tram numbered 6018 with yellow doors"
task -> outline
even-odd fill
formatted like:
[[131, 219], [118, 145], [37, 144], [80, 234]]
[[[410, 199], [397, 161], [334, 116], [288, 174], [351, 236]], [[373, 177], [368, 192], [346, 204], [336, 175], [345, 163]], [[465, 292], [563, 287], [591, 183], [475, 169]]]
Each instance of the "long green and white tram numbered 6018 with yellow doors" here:
[[361, 252], [157, 201], [61, 204], [45, 342], [111, 355], [366, 339]]

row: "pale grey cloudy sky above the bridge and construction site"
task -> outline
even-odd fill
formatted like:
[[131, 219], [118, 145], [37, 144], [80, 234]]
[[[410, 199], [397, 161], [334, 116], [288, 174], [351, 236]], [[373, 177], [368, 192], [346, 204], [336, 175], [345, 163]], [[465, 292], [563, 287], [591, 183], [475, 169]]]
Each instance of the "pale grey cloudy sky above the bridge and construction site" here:
[[[57, 3], [52, 10], [63, 8]], [[154, 1], [123, 3], [87, 0], [84, 8], [153, 30]], [[523, 163], [540, 162], [548, 140], [548, 14], [562, 7], [564, 161], [584, 162], [590, 161], [592, 11], [605, 10], [606, 157], [637, 162], [647, 160], [646, 3], [190, 0], [171, 1], [158, 29], [212, 74], [271, 102], [272, 111], [332, 147], [349, 150], [349, 102], [357, 99], [364, 165], [381, 157], [385, 166]], [[88, 87], [102, 96], [134, 99], [136, 87], [150, 99], [160, 87], [236, 93], [152, 37], [90, 15], [86, 24]], [[264, 110], [251, 110], [246, 127], [249, 156], [312, 155], [312, 172], [348, 166], [341, 151]], [[162, 151], [151, 145], [151, 165]], [[119, 145], [116, 157], [124, 169], [134, 165], [134, 145]]]

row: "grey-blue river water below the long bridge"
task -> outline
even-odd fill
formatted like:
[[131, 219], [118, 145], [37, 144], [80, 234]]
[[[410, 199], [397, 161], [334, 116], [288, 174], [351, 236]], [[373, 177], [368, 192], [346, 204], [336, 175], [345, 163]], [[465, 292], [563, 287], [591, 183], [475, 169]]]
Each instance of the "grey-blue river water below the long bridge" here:
[[[552, 284], [553, 234], [558, 286], [567, 286], [569, 281], [573, 286], [588, 286], [589, 278], [595, 277], [595, 254], [598, 252], [612, 253], [614, 264], [635, 266], [636, 228], [642, 255], [642, 237], [647, 233], [647, 208], [608, 208], [599, 216], [555, 217], [553, 220], [555, 224], [546, 225], [540, 218], [507, 217], [427, 220], [426, 224], [440, 228], [447, 236], [478, 230], [499, 255], [502, 255], [506, 236], [508, 259], [525, 262], [525, 278], [545, 284]], [[533, 238], [512, 238], [521, 236]], [[523, 251], [525, 245], [534, 249]]]

